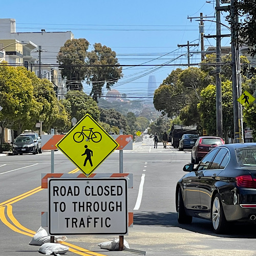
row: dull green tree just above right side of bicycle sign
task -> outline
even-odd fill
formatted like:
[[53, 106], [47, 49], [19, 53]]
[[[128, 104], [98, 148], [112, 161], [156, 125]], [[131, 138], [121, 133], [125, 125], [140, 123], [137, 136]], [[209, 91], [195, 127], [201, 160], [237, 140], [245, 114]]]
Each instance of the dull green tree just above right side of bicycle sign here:
[[127, 119], [115, 109], [100, 109], [100, 121], [108, 123], [111, 129], [118, 127], [118, 131], [116, 131], [117, 134], [119, 134], [119, 129], [123, 130], [123, 134], [131, 134]]

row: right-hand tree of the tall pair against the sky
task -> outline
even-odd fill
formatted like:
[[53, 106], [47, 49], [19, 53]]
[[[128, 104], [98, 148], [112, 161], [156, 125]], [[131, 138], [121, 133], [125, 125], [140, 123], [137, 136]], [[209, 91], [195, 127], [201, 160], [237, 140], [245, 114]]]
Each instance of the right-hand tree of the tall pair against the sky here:
[[[116, 52], [100, 43], [95, 44], [94, 50], [87, 54], [87, 60], [90, 67], [87, 69], [86, 79], [87, 83], [92, 86], [90, 96], [98, 101], [102, 95], [104, 84], [109, 90], [122, 77], [122, 67], [118, 67]], [[95, 67], [91, 65], [95, 65]]]

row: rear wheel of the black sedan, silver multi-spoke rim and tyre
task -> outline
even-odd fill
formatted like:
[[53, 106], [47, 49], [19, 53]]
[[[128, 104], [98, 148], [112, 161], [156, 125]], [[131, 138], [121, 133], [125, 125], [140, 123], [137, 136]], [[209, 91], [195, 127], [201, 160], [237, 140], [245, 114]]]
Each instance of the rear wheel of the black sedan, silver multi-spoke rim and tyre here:
[[212, 227], [217, 234], [227, 231], [227, 221], [224, 215], [221, 198], [219, 194], [215, 195], [211, 206]]

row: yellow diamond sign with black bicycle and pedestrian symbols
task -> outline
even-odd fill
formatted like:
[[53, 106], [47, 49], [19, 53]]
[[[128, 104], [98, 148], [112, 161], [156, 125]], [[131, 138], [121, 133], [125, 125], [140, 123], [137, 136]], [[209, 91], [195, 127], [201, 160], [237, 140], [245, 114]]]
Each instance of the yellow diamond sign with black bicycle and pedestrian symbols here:
[[87, 114], [56, 146], [88, 177], [119, 145]]

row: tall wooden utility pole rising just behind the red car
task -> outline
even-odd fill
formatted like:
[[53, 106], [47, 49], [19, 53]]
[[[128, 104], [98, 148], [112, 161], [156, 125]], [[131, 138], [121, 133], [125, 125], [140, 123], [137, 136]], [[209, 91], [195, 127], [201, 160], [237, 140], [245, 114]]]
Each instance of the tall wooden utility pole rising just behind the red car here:
[[[221, 13], [220, 0], [216, 0], [216, 135], [223, 138], [222, 92], [221, 92]], [[219, 65], [218, 65], [219, 63]]]

